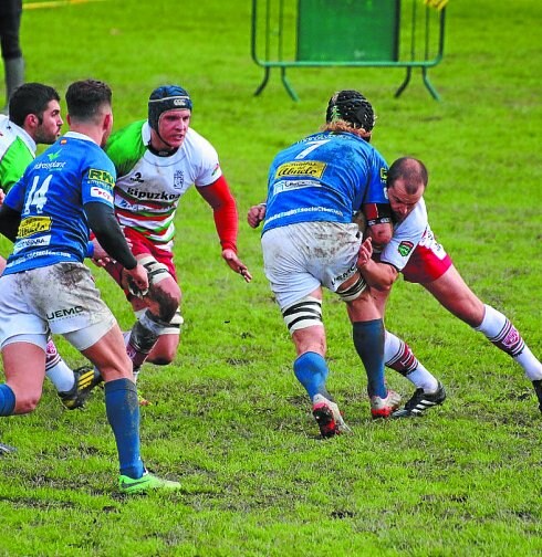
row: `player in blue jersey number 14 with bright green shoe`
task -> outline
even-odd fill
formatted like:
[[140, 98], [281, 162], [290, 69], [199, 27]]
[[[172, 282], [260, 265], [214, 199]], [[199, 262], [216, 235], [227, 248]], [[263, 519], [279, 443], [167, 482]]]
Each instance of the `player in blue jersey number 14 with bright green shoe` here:
[[119, 460], [119, 490], [178, 488], [146, 472], [139, 455], [139, 406], [123, 336], [88, 267], [88, 234], [148, 287], [113, 208], [115, 168], [103, 151], [113, 127], [111, 88], [72, 83], [66, 92], [70, 132], [29, 165], [0, 207], [0, 233], [14, 241], [0, 277], [0, 348], [6, 383], [0, 416], [37, 407], [50, 333], [63, 335], [101, 371], [107, 419]]

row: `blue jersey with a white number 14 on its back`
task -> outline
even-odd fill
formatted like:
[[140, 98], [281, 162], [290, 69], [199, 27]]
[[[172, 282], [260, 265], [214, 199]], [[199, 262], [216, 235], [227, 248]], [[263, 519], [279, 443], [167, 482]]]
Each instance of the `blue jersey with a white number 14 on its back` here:
[[88, 221], [83, 206], [113, 207], [115, 168], [87, 136], [69, 132], [38, 157], [4, 203], [21, 213], [4, 274], [59, 262], [83, 262]]

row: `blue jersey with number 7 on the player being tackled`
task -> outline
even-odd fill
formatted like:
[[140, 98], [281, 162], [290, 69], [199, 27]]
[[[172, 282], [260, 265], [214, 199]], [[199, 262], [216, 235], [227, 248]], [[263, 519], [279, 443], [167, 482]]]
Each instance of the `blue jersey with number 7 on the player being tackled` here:
[[388, 203], [387, 164], [365, 139], [323, 132], [277, 155], [269, 170], [262, 234], [298, 222], [352, 222], [365, 203]]

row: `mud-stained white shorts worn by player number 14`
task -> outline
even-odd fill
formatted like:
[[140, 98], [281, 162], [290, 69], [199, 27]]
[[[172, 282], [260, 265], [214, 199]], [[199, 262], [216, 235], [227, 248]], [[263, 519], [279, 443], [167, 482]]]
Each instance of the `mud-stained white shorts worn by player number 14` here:
[[91, 271], [82, 263], [56, 263], [0, 276], [0, 347], [17, 337], [29, 341], [35, 337], [34, 344], [45, 346], [46, 336], [53, 333], [84, 350], [115, 323]]

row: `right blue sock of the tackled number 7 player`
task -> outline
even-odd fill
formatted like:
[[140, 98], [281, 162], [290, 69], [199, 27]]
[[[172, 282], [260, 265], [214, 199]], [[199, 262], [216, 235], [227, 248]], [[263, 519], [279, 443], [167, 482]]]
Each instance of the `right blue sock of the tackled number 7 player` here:
[[367, 374], [367, 392], [369, 397], [387, 397], [384, 382], [384, 322], [353, 323], [353, 338], [359, 358]]

